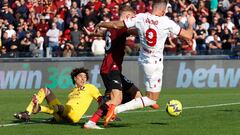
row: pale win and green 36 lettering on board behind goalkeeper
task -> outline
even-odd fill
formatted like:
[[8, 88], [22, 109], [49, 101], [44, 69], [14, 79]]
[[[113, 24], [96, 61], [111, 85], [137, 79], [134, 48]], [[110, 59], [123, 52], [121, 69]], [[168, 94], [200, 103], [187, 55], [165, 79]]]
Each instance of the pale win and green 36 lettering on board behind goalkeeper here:
[[[49, 66], [46, 70], [30, 70], [29, 64], [22, 64], [21, 69], [0, 70], [0, 90], [4, 89], [39, 89], [48, 87], [51, 89], [68, 89], [73, 87], [72, 79], [69, 73], [72, 67], [58, 68]], [[101, 87], [98, 82], [99, 65], [94, 65], [90, 70], [90, 83], [96, 87]]]

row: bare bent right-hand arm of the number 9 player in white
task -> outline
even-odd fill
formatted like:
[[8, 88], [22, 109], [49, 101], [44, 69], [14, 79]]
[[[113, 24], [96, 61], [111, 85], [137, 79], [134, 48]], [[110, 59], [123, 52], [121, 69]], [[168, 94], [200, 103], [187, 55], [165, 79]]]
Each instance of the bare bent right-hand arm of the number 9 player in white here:
[[193, 24], [195, 23], [195, 18], [193, 16], [189, 16], [188, 17], [188, 28], [185, 30], [185, 29], [181, 29], [180, 32], [179, 32], [179, 36], [180, 37], [183, 37], [187, 40], [191, 40], [193, 39]]

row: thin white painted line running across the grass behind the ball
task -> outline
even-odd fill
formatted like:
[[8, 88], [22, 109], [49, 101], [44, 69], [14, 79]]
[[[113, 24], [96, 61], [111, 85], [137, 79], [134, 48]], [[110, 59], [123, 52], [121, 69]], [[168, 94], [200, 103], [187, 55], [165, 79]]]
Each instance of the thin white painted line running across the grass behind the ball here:
[[[213, 107], [221, 107], [221, 106], [230, 106], [230, 105], [240, 105], [240, 102], [235, 103], [225, 103], [225, 104], [215, 104], [215, 105], [201, 105], [201, 106], [190, 106], [190, 107], [183, 107], [183, 110], [189, 110], [189, 109], [202, 109], [202, 108], [213, 108]], [[139, 111], [129, 111], [129, 112], [123, 112], [123, 113], [144, 113], [144, 112], [159, 112], [159, 111], [165, 111], [165, 110], [139, 110]], [[90, 118], [92, 115], [85, 115], [82, 118]], [[43, 122], [46, 122], [43, 120]], [[10, 124], [0, 124], [0, 127], [10, 127], [10, 126], [18, 126], [22, 124], [34, 124], [39, 122], [26, 122], [26, 123], [10, 123]]]

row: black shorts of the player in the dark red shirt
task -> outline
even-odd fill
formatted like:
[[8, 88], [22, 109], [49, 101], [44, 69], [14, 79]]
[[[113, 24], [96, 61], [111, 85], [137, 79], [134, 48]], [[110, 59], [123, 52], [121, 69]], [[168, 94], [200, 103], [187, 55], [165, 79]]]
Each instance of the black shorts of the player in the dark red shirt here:
[[114, 70], [108, 74], [101, 74], [101, 77], [106, 88], [105, 96], [109, 96], [112, 89], [118, 89], [123, 92], [122, 103], [130, 101], [133, 97], [135, 97], [137, 91], [129, 91], [134, 84], [120, 71]]

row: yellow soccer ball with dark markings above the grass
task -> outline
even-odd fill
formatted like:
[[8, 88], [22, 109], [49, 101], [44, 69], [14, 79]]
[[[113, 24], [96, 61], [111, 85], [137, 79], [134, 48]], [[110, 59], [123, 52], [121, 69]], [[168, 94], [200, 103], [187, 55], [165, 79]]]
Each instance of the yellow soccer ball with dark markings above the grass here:
[[169, 100], [166, 111], [170, 116], [177, 117], [182, 113], [182, 103], [175, 99]]

